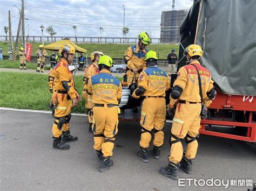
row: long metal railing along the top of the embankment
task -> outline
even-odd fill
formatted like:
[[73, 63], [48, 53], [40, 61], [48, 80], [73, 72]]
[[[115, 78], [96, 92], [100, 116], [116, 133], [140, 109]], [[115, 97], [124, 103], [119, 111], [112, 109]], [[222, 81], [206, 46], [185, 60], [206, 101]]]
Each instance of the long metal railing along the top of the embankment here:
[[[59, 40], [63, 40], [65, 38], [69, 38], [75, 43], [137, 43], [137, 37], [62, 37], [62, 36], [45, 36], [44, 42], [45, 43], [53, 43]], [[12, 36], [12, 41], [16, 40], [16, 36]], [[19, 40], [22, 41], [22, 36], [19, 36]], [[152, 38], [153, 44], [160, 44], [160, 43], [178, 43], [178, 42], [169, 42], [170, 39], [163, 39], [163, 38]], [[0, 36], [0, 41], [9, 41], [9, 36]], [[42, 42], [42, 36], [26, 36], [25, 41], [27, 42]]]

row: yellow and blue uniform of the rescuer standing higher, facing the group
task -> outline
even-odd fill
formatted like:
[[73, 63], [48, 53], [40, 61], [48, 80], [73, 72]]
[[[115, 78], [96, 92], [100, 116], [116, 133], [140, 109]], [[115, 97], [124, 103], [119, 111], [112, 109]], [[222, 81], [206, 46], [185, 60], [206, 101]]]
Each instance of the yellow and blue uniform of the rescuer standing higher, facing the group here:
[[[127, 60], [127, 84], [130, 86], [131, 83], [137, 83], [139, 74], [143, 69], [146, 68], [145, 54], [148, 50], [139, 49], [138, 43], [136, 45], [130, 46], [125, 52], [125, 59]], [[134, 76], [133, 68], [138, 68], [138, 72]]]

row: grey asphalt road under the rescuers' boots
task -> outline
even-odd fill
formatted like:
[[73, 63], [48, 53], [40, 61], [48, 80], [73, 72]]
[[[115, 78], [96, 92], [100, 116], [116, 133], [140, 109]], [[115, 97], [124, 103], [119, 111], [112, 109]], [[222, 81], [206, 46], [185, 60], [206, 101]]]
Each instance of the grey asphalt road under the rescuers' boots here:
[[[66, 151], [53, 150], [51, 114], [0, 110], [1, 190], [224, 190], [224, 187], [178, 187], [178, 181], [158, 173], [167, 165], [170, 126], [165, 125], [165, 143], [159, 160], [144, 164], [137, 158], [139, 125], [120, 122], [114, 165], [104, 173], [93, 151], [93, 136], [87, 118], [72, 116], [70, 126], [78, 141]], [[256, 153], [237, 140], [200, 136], [193, 173], [179, 171], [180, 178], [253, 179]], [[185, 182], [188, 185], [188, 182]], [[231, 187], [227, 190], [247, 190]]]

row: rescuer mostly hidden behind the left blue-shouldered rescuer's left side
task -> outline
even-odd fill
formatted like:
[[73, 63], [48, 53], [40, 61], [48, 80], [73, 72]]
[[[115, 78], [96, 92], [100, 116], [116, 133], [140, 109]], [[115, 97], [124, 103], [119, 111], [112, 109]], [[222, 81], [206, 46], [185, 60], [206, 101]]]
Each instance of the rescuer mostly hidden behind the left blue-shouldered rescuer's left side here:
[[87, 94], [87, 84], [89, 79], [99, 73], [98, 61], [99, 57], [102, 56], [102, 52], [93, 52], [91, 53], [91, 65], [88, 66], [84, 73], [84, 90], [83, 90], [83, 98], [86, 100], [85, 108], [88, 110], [88, 124], [89, 124], [89, 132], [93, 133], [92, 131], [92, 124], [93, 124], [93, 112], [92, 108], [94, 104], [92, 103], [92, 96]]

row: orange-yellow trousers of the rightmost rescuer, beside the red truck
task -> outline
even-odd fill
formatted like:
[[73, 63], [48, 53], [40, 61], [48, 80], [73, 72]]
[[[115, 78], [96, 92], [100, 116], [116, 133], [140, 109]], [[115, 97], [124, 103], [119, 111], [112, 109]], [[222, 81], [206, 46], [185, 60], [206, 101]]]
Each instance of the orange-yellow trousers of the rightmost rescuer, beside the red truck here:
[[196, 137], [200, 129], [201, 104], [178, 103], [172, 123], [171, 151], [169, 160], [177, 164], [183, 157], [183, 146], [181, 139], [186, 139], [187, 150], [185, 157], [193, 159], [196, 157], [198, 142]]

